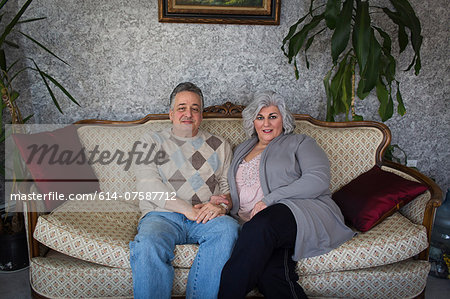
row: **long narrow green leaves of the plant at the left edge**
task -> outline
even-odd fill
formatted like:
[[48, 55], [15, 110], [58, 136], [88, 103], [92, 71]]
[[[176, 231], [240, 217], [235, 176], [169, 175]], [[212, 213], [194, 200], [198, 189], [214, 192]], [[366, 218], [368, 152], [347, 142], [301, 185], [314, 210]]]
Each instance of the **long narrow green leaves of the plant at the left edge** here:
[[[78, 102], [74, 99], [74, 97], [50, 74], [43, 71], [38, 64], [35, 62], [33, 57], [31, 56], [24, 56], [23, 52], [18, 51], [20, 49], [20, 46], [14, 42], [14, 35], [16, 36], [22, 36], [25, 38], [25, 40], [28, 40], [32, 42], [33, 44], [37, 45], [39, 49], [44, 50], [46, 53], [50, 54], [55, 59], [59, 60], [61, 63], [64, 63], [66, 65], [67, 62], [59, 58], [57, 55], [55, 55], [52, 51], [50, 51], [47, 47], [45, 47], [42, 43], [37, 41], [36, 39], [32, 38], [30, 35], [20, 31], [18, 29], [19, 24], [23, 23], [31, 23], [31, 22], [37, 22], [44, 20], [45, 17], [42, 18], [33, 18], [33, 19], [26, 19], [22, 20], [22, 16], [25, 13], [25, 11], [30, 6], [31, 2], [33, 0], [27, 0], [25, 3], [21, 6], [20, 10], [14, 14], [11, 20], [5, 21], [6, 16], [8, 15], [5, 10], [5, 5], [7, 4], [8, 0], [2, 0], [0, 2], [0, 92], [1, 92], [1, 114], [0, 114], [0, 124], [1, 124], [1, 136], [0, 141], [3, 143], [6, 139], [6, 135], [10, 134], [11, 132], [6, 133], [4, 126], [3, 126], [3, 116], [4, 111], [6, 110], [9, 115], [11, 116], [11, 123], [13, 124], [24, 124], [26, 123], [33, 115], [29, 115], [27, 117], [23, 117], [21, 114], [21, 104], [19, 100], [19, 92], [14, 89], [14, 82], [18, 78], [20, 74], [22, 74], [25, 71], [32, 71], [38, 74], [38, 78], [42, 84], [46, 87], [48, 94], [50, 95], [50, 98], [52, 99], [52, 102], [54, 106], [58, 109], [59, 112], [63, 113], [61, 110], [61, 107], [56, 99], [56, 96], [52, 90], [51, 85], [56, 86], [59, 90], [61, 90], [73, 103], [78, 104]], [[8, 54], [8, 55], [7, 55]], [[29, 55], [33, 53], [27, 53]], [[12, 63], [8, 63], [7, 57], [15, 57], [16, 60], [14, 60]], [[20, 61], [24, 61], [25, 65], [26, 62], [30, 62], [31, 66], [20, 66]], [[14, 159], [14, 157], [8, 157], [9, 159]], [[16, 163], [17, 164], [17, 163]], [[3, 163], [2, 163], [3, 165]], [[4, 169], [1, 167], [2, 173], [4, 175]], [[18, 213], [15, 213], [15, 215], [12, 217], [8, 217], [8, 211], [0, 211], [0, 233], [5, 232], [17, 232], [22, 229], [23, 227], [23, 221], [19, 221], [20, 215]], [[22, 225], [18, 225], [22, 224]]]

